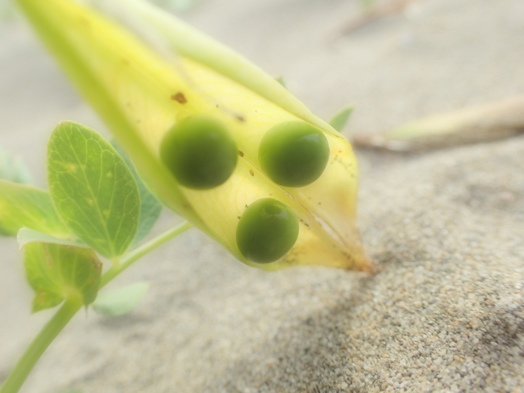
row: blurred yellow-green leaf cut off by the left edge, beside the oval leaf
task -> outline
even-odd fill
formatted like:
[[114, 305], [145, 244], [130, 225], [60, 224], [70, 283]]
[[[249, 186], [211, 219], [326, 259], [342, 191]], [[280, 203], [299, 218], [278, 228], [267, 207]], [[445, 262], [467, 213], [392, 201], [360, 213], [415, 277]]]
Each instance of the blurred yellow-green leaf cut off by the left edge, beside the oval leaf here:
[[26, 226], [57, 237], [71, 237], [51, 203], [49, 192], [0, 179], [0, 235], [15, 236]]

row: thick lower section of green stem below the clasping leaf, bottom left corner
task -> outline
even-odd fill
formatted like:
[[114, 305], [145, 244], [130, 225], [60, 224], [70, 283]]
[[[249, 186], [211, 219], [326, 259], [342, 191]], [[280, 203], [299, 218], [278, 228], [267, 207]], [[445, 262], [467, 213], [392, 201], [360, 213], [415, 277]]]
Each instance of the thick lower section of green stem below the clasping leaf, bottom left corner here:
[[19, 359], [13, 372], [9, 374], [2, 387], [0, 387], [0, 393], [15, 393], [20, 389], [32, 368], [35, 366], [35, 363], [54, 340], [54, 337], [62, 331], [64, 326], [81, 307], [82, 301], [78, 298], [68, 299], [62, 304], [62, 307], [60, 307], [57, 313], [53, 315], [53, 318], [43, 326], [43, 329]]

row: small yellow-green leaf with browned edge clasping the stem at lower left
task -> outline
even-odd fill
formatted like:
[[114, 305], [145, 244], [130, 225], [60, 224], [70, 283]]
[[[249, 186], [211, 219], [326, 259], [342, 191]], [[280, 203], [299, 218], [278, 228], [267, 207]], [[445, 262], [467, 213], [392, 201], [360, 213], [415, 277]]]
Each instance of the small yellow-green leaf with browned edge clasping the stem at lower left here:
[[71, 298], [91, 304], [102, 275], [102, 263], [93, 249], [53, 243], [26, 244], [24, 267], [29, 285], [36, 293], [33, 312]]

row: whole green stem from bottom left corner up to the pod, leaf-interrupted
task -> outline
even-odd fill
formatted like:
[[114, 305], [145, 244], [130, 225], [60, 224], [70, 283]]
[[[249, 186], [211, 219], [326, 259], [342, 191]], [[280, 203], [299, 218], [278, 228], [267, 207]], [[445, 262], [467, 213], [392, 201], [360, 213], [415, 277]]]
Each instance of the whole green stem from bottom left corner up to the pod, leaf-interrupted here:
[[[189, 222], [183, 222], [182, 224], [151, 239], [144, 245], [135, 248], [132, 252], [129, 252], [120, 260], [120, 264], [113, 265], [111, 269], [104, 273], [100, 288], [121, 274], [122, 271], [131, 266], [137, 259], [166, 243], [173, 237], [187, 231], [191, 226], [192, 225]], [[24, 355], [19, 359], [13, 371], [9, 374], [2, 387], [0, 387], [0, 393], [16, 393], [20, 389], [40, 356], [42, 356], [49, 344], [51, 344], [58, 333], [62, 331], [69, 320], [73, 318], [73, 315], [77, 313], [82, 305], [82, 301], [79, 299], [67, 299], [62, 304], [62, 307], [60, 307], [57, 313], [53, 315], [51, 320], [43, 327], [40, 333], [38, 333]]]

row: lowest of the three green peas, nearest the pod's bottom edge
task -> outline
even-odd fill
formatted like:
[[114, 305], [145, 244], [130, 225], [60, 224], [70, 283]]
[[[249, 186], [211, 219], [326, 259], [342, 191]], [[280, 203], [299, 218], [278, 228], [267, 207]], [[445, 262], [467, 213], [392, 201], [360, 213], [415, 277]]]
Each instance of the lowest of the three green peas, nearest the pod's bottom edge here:
[[298, 237], [293, 211], [273, 198], [258, 199], [248, 206], [236, 227], [238, 249], [252, 262], [267, 264], [282, 258]]

